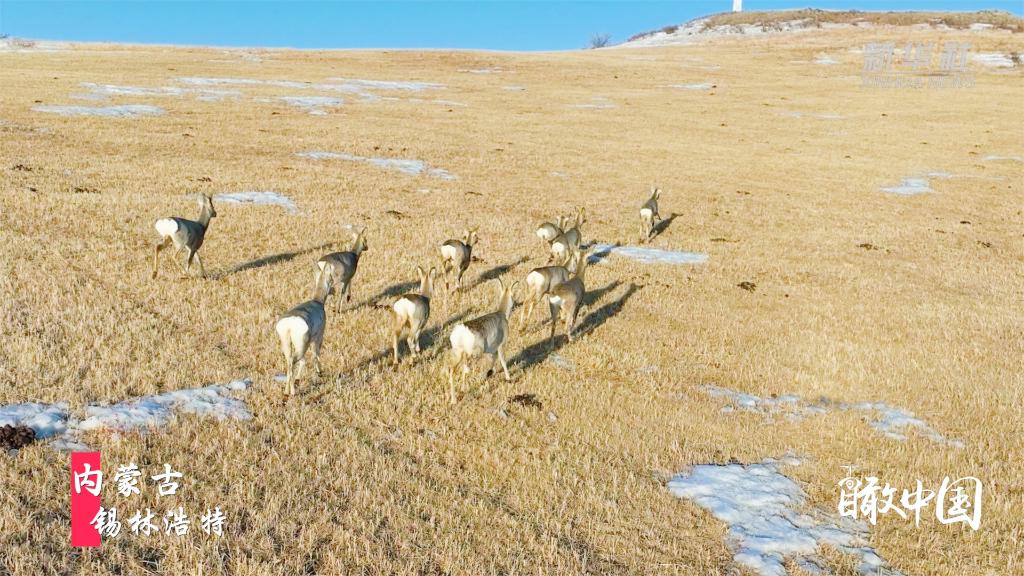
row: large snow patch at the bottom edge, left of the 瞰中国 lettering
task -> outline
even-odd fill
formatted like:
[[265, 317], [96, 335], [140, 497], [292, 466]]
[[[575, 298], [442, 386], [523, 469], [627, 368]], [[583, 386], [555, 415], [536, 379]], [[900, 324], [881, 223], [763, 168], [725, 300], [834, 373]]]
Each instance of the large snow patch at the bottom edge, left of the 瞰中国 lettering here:
[[780, 470], [788, 459], [757, 464], [700, 464], [677, 475], [669, 491], [692, 500], [729, 527], [737, 564], [763, 576], [786, 576], [786, 559], [811, 573], [827, 563], [818, 546], [831, 545], [855, 557], [863, 575], [898, 575], [868, 544], [867, 525], [807, 505], [804, 490]]

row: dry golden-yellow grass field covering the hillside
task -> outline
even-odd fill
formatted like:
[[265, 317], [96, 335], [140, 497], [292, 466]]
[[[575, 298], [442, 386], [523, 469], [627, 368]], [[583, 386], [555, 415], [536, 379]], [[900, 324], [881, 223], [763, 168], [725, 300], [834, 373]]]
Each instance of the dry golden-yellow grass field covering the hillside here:
[[[176, 496], [106, 486], [104, 505], [220, 506], [223, 537], [194, 526], [72, 548], [68, 455], [38, 442], [2, 459], [0, 574], [755, 574], [726, 525], [667, 483], [786, 454], [802, 459], [784, 471], [807, 505], [833, 512], [847, 465], [899, 488], [977, 477], [977, 531], [888, 515], [869, 544], [906, 575], [1024, 573], [1022, 68], [972, 64], [974, 86], [957, 89], [863, 87], [851, 49], [884, 41], [1024, 51], [1009, 32], [876, 28], [553, 53], [0, 52], [0, 405], [80, 414], [254, 382], [239, 395], [250, 420], [181, 415], [84, 439], [108, 483], [128, 462], [184, 474]], [[195, 77], [442, 86], [371, 101], [179, 80]], [[92, 101], [72, 96], [89, 93], [82, 83], [240, 95]], [[671, 87], [700, 83], [713, 87]], [[311, 115], [280, 96], [344, 104]], [[165, 113], [33, 110], [127, 104]], [[419, 159], [458, 179], [297, 156], [310, 151]], [[930, 193], [881, 191], [929, 172], [944, 174]], [[550, 353], [536, 315], [506, 346], [512, 381], [481, 384], [481, 363], [450, 405], [449, 333], [492, 310], [493, 279], [545, 263], [536, 225], [580, 205], [585, 241], [635, 245], [652, 184], [676, 217], [650, 246], [707, 263], [591, 265], [580, 337]], [[217, 202], [209, 278], [182, 279], [168, 251], [151, 280], [156, 219], [196, 217], [195, 193], [245, 191], [286, 195], [298, 213]], [[309, 297], [346, 224], [369, 243], [352, 301], [328, 302], [324, 375], [286, 400], [273, 322]], [[468, 289], [445, 299], [439, 286], [425, 355], [392, 367], [390, 319], [373, 304], [414, 288], [416, 265], [437, 265], [438, 245], [475, 225]], [[857, 411], [723, 412], [703, 384], [885, 402], [965, 447], [913, 429], [893, 440]], [[542, 406], [510, 401], [520, 394]], [[821, 553], [856, 574], [851, 557]]]

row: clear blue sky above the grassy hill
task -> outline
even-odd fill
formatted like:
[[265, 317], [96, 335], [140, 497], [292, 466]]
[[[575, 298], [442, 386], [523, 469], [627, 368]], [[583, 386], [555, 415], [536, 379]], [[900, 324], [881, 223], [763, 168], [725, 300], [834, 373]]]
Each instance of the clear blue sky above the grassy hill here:
[[[743, 8], [1024, 13], [1024, 0], [744, 0]], [[672, 1], [108, 1], [0, 0], [0, 33], [47, 40], [295, 48], [583, 47], [729, 10], [731, 0]]]

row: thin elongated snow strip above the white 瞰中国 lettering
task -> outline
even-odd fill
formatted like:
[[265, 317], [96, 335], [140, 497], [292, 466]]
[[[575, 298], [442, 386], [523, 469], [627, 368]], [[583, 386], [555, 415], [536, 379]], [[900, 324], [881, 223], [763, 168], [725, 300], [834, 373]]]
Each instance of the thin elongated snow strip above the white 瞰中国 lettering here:
[[873, 415], [871, 427], [886, 438], [893, 440], [906, 440], [906, 430], [915, 428], [925, 438], [953, 448], [964, 448], [964, 443], [959, 440], [948, 439], [928, 422], [915, 417], [912, 412], [890, 406], [884, 402], [834, 402], [827, 398], [819, 399], [817, 402], [806, 402], [796, 395], [785, 395], [773, 398], [762, 398], [753, 394], [733, 390], [716, 385], [700, 386], [705, 393], [715, 398], [724, 398], [728, 404], [722, 407], [722, 412], [735, 412], [742, 410], [755, 412], [766, 416], [782, 415], [788, 420], [800, 420], [807, 416], [824, 414], [829, 410], [857, 410], [869, 412]]

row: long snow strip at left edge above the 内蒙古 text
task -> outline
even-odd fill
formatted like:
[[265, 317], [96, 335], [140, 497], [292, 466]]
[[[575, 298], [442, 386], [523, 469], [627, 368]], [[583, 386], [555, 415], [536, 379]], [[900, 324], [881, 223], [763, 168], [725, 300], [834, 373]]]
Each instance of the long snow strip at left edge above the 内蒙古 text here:
[[54, 438], [58, 450], [86, 449], [79, 440], [83, 431], [114, 429], [144, 430], [166, 426], [175, 412], [213, 416], [218, 419], [249, 419], [252, 414], [245, 402], [230, 396], [252, 385], [252, 380], [236, 380], [198, 388], [143, 396], [108, 406], [89, 405], [86, 417], [71, 416], [67, 402], [56, 404], [24, 403], [0, 406], [0, 425], [27, 425], [37, 438]]

